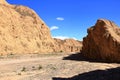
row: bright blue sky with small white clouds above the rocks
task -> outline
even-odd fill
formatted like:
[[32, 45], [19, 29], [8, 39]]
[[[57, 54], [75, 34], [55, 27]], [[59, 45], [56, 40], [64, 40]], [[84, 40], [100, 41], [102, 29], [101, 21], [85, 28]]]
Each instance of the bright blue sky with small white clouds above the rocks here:
[[105, 18], [120, 25], [120, 0], [7, 0], [35, 12], [51, 28], [53, 37], [82, 40], [87, 28]]

